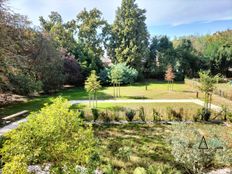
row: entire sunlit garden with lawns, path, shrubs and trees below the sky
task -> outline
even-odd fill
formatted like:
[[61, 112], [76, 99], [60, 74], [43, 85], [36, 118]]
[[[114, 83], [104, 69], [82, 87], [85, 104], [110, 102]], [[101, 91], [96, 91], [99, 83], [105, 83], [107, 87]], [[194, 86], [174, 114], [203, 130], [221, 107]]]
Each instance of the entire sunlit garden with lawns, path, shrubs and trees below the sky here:
[[0, 173], [232, 172], [232, 30], [151, 35], [136, 0], [65, 18], [0, 0]]

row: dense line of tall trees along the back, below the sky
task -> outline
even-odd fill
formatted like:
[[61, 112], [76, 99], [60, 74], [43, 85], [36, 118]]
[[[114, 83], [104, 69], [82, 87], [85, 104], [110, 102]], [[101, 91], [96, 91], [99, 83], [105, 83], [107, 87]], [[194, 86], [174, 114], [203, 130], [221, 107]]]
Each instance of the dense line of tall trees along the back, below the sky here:
[[[98, 9], [83, 9], [66, 22], [51, 12], [48, 18], [39, 18], [40, 28], [35, 29], [6, 4], [0, 0], [2, 91], [28, 95], [56, 91], [64, 84], [84, 85], [92, 70], [102, 84], [113, 84], [109, 72], [113, 67], [131, 71], [139, 80], [164, 79], [168, 66], [173, 67], [175, 80], [197, 77], [200, 70], [232, 76], [231, 30], [172, 41], [167, 36], [150, 37], [146, 11], [135, 0], [122, 0], [113, 24]], [[114, 64], [111, 68], [102, 62], [106, 55]]]

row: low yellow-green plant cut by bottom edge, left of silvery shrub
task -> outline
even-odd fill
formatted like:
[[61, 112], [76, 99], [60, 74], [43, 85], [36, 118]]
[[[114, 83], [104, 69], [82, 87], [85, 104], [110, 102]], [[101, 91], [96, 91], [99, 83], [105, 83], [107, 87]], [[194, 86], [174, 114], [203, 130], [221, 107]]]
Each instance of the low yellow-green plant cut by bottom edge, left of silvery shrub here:
[[180, 174], [181, 172], [168, 164], [153, 164], [147, 169], [147, 174]]

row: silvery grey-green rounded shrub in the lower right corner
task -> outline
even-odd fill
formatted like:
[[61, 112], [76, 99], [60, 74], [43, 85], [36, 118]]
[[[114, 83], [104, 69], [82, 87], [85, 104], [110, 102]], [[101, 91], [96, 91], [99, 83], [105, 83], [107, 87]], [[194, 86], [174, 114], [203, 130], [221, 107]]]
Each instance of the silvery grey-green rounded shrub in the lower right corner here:
[[[231, 149], [227, 148], [225, 141], [216, 135], [217, 129], [209, 130], [213, 136], [206, 138], [208, 149], [199, 149], [201, 132], [189, 125], [174, 127], [169, 141], [172, 144], [172, 154], [186, 172], [203, 173], [209, 166], [229, 164], [231, 162]], [[217, 149], [222, 147], [223, 149]]]

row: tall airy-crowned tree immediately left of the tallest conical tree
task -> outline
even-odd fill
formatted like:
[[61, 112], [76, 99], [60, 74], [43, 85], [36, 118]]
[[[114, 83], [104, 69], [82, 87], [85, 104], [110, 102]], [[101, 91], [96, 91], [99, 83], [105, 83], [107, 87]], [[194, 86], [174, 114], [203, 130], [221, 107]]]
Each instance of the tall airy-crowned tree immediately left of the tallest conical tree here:
[[103, 50], [103, 28], [107, 25], [102, 18], [102, 13], [94, 8], [90, 11], [84, 9], [77, 15], [76, 25], [78, 29], [78, 38], [82, 51], [87, 56], [81, 58], [81, 62], [86, 63], [90, 70], [100, 71], [102, 68], [101, 57]]

